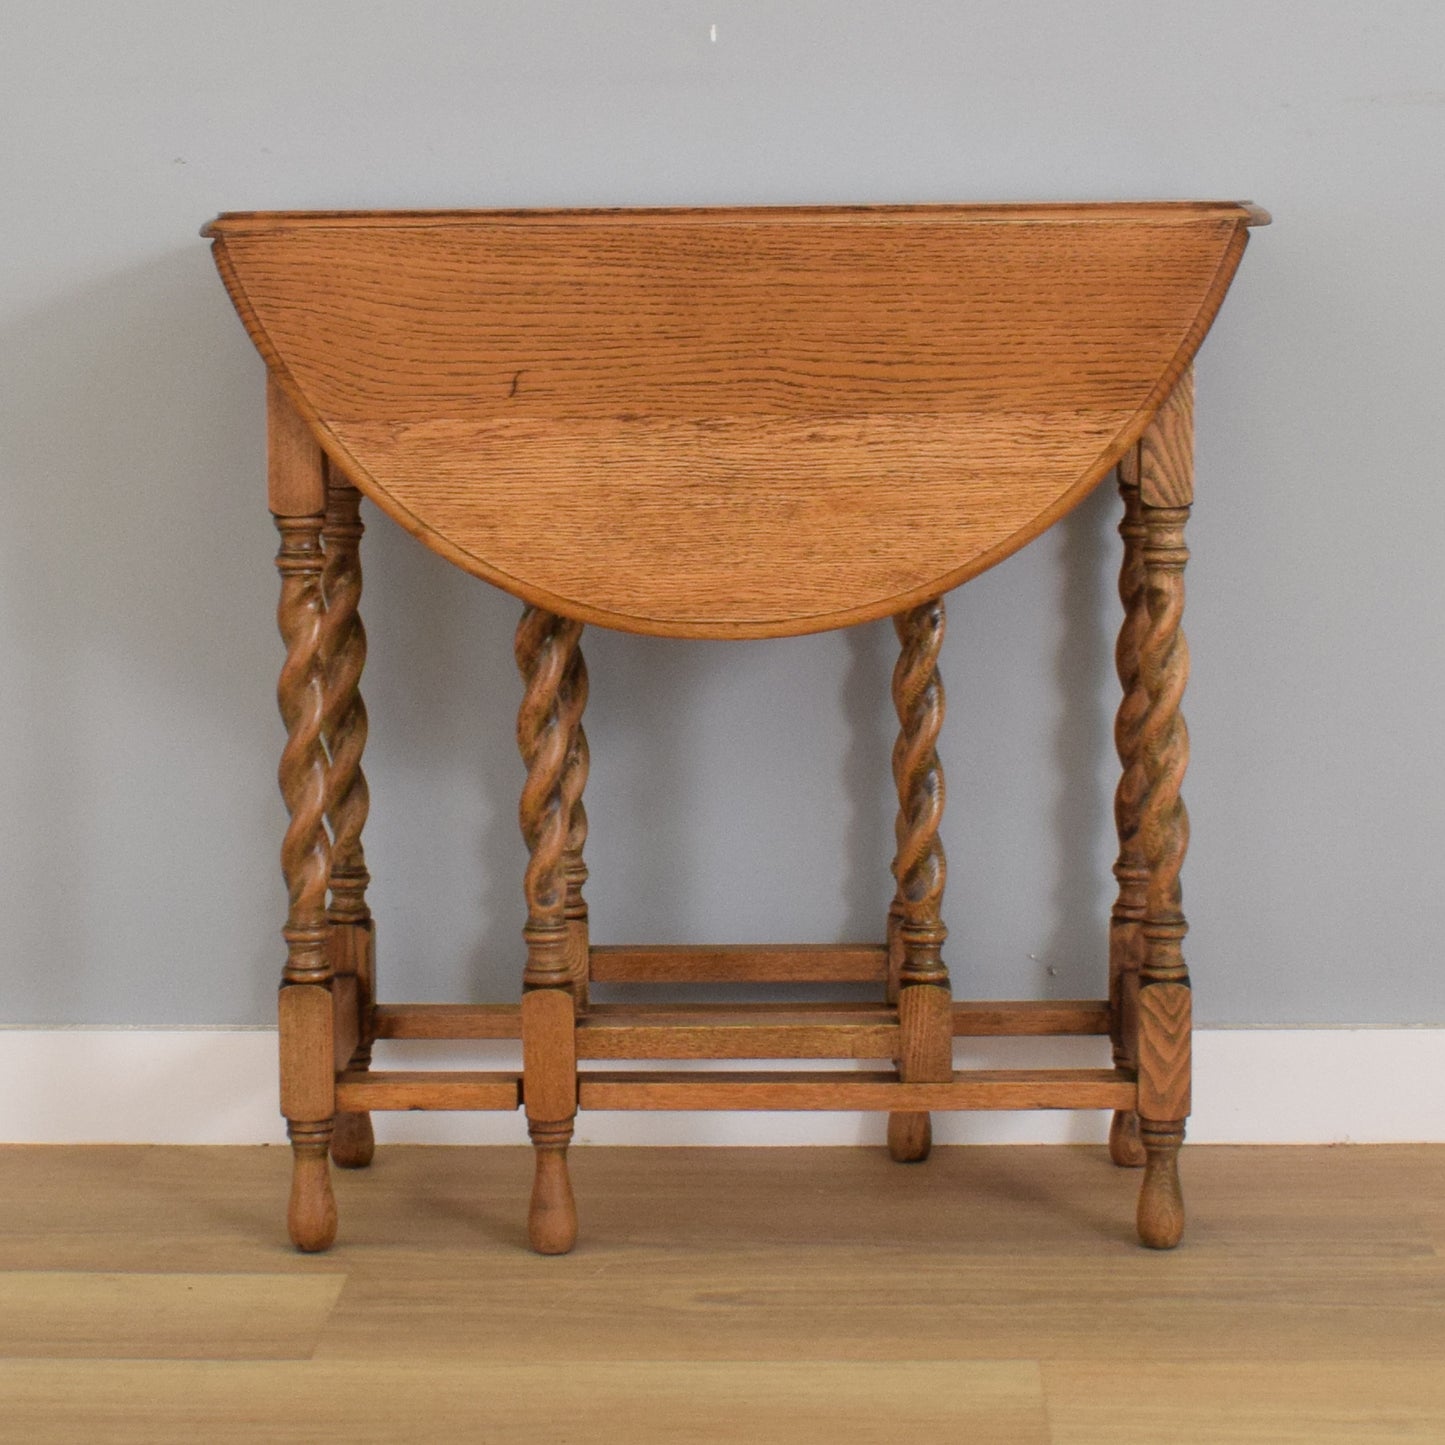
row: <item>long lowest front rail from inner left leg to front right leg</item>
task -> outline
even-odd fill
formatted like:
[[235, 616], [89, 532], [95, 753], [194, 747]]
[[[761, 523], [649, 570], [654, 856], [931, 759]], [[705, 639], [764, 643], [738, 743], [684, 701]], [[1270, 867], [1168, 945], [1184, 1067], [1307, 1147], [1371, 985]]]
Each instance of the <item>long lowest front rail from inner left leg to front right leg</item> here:
[[1133, 1108], [1123, 1069], [975, 1069], [948, 1084], [902, 1084], [892, 1072], [582, 1074], [582, 1108]]

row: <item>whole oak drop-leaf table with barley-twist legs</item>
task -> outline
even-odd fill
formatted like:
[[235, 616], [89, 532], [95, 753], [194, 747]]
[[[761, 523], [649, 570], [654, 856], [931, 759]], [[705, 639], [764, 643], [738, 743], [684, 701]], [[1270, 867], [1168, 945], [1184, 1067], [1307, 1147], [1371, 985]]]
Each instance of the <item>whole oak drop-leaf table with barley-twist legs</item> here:
[[[526, 1110], [529, 1235], [577, 1237], [578, 1108], [1113, 1110], [1139, 1233], [1183, 1230], [1179, 699], [1194, 354], [1267, 217], [1233, 202], [227, 214], [205, 234], [269, 368], [290, 822], [280, 1095], [292, 1240], [370, 1113]], [[955, 1003], [944, 964], [944, 594], [1117, 468], [1123, 776], [1108, 997]], [[361, 496], [525, 604], [517, 1006], [379, 1004], [361, 847]], [[598, 946], [582, 887], [587, 623], [779, 637], [892, 617], [896, 892], [873, 946]], [[588, 985], [871, 981], [871, 1004], [592, 1004]], [[1113, 1068], [955, 1071], [968, 1035], [1103, 1035]], [[522, 1039], [514, 1072], [373, 1071], [377, 1039]], [[617, 1072], [590, 1059], [838, 1059]]]

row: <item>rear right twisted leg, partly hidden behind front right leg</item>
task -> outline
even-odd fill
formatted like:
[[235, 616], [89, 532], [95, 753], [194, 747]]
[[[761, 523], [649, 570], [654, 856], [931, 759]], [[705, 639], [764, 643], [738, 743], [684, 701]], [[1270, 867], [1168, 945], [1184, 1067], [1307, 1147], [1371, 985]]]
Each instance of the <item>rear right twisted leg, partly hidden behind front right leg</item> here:
[[[1108, 926], [1108, 1032], [1114, 1045], [1114, 1068], [1139, 1068], [1139, 967], [1143, 952], [1144, 892], [1149, 868], [1139, 841], [1140, 809], [1144, 801], [1144, 760], [1140, 728], [1149, 711], [1149, 695], [1139, 676], [1139, 647], [1149, 630], [1144, 588], [1144, 525], [1139, 500], [1139, 451], [1131, 448], [1118, 464], [1118, 490], [1124, 517], [1118, 535], [1124, 559], [1118, 571], [1118, 597], [1124, 621], [1114, 647], [1121, 698], [1114, 718], [1114, 747], [1121, 767], [1114, 790], [1114, 827], [1118, 861], [1114, 877], [1118, 896]], [[1108, 1130], [1108, 1153], [1116, 1165], [1139, 1168], [1144, 1146], [1139, 1139], [1139, 1114], [1116, 1110]]]

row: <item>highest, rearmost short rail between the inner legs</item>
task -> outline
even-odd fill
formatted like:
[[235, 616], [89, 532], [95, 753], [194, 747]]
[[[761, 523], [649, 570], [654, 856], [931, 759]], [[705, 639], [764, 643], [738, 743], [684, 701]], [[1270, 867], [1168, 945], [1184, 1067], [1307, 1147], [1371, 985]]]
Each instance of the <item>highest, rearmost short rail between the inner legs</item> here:
[[870, 944], [608, 944], [591, 949], [591, 971], [600, 984], [881, 983], [889, 975], [889, 951]]

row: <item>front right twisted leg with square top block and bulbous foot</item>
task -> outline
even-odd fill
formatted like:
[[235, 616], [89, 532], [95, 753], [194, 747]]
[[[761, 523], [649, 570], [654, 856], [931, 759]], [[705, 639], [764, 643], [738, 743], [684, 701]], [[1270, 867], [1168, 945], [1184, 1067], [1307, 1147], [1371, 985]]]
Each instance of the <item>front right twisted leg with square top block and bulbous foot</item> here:
[[1147, 711], [1139, 749], [1144, 796], [1139, 840], [1149, 870], [1139, 970], [1139, 1131], [1144, 1179], [1139, 1237], [1173, 1248], [1183, 1235], [1179, 1147], [1189, 1113], [1189, 971], [1179, 871], [1189, 844], [1189, 815], [1179, 796], [1189, 734], [1179, 702], [1189, 676], [1183, 639], [1185, 522], [1192, 490], [1192, 393], [1188, 373], [1144, 432], [1139, 451], [1144, 591], [1149, 626], [1139, 646]]

